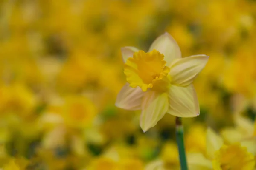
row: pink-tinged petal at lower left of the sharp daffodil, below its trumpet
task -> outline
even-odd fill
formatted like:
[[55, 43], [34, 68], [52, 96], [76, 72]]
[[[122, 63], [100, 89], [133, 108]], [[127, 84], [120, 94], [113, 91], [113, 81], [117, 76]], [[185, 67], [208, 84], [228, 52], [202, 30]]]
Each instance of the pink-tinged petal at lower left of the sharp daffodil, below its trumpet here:
[[126, 83], [117, 95], [116, 106], [131, 111], [140, 110], [144, 94], [139, 87], [132, 88]]

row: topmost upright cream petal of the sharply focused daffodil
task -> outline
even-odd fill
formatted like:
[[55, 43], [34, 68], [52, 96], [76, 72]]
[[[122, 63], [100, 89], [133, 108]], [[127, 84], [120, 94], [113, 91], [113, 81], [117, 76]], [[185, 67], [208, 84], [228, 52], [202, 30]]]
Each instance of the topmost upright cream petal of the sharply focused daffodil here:
[[167, 66], [169, 66], [174, 59], [181, 58], [179, 45], [167, 32], [157, 37], [157, 39], [151, 44], [148, 51], [152, 51], [154, 49], [164, 55], [164, 60], [166, 60]]

